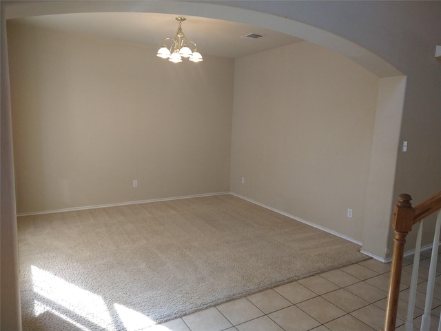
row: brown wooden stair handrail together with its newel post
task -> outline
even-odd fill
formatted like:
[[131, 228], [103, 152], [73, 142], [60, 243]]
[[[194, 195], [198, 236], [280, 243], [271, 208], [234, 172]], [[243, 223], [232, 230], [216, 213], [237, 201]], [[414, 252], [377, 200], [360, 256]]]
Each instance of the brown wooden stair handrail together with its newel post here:
[[441, 210], [441, 192], [434, 194], [415, 208], [412, 207], [411, 200], [412, 197], [409, 194], [400, 194], [398, 203], [393, 208], [392, 228], [395, 235], [383, 331], [395, 330], [406, 236], [411, 232], [414, 224]]

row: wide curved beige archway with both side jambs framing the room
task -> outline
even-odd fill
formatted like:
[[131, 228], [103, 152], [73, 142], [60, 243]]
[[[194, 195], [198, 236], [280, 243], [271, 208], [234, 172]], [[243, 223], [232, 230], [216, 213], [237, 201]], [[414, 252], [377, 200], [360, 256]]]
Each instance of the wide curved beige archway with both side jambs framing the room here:
[[[273, 30], [278, 30], [287, 34], [293, 34], [296, 37], [300, 37], [305, 40], [317, 43], [320, 46], [325, 46], [336, 50], [341, 54], [344, 54], [349, 59], [356, 61], [361, 66], [364, 66], [368, 70], [371, 70], [380, 79], [384, 79], [383, 83], [380, 84], [379, 92], [379, 103], [377, 108], [377, 121], [376, 121], [376, 134], [373, 143], [373, 157], [371, 159], [371, 174], [369, 176], [369, 192], [367, 194], [367, 208], [369, 212], [365, 215], [365, 219], [371, 219], [375, 217], [376, 214], [384, 214], [390, 212], [391, 203], [384, 203], [381, 210], [376, 207], [377, 201], [391, 201], [391, 196], [393, 192], [393, 174], [395, 172], [395, 162], [396, 153], [393, 151], [398, 150], [398, 134], [400, 130], [400, 121], [394, 122], [396, 126], [391, 128], [390, 122], [385, 122], [390, 117], [400, 119], [400, 112], [402, 108], [402, 98], [404, 93], [404, 83], [403, 79], [399, 78], [389, 78], [398, 77], [400, 72], [389, 65], [389, 63], [383, 61], [375, 54], [372, 54], [368, 50], [351, 43], [345, 39], [342, 39], [334, 34], [330, 34], [324, 30], [308, 26], [305, 23], [300, 23], [297, 21], [291, 21], [283, 19], [282, 17], [275, 17], [270, 14], [254, 12], [250, 10], [240, 10], [238, 8], [231, 8], [228, 6], [219, 6], [211, 3], [186, 3], [183, 1], [168, 2], [168, 1], [149, 1], [145, 3], [132, 2], [132, 1], [121, 1], [121, 2], [103, 2], [103, 1], [92, 1], [92, 2], [80, 2], [74, 3], [70, 1], [61, 1], [57, 3], [52, 3], [51, 1], [44, 2], [34, 2], [34, 3], [19, 3], [12, 1], [11, 3], [2, 4], [2, 40], [3, 47], [2, 52], [2, 100], [1, 100], [1, 140], [3, 143], [10, 142], [10, 104], [8, 96], [8, 62], [5, 61], [7, 48], [6, 48], [6, 19], [34, 16], [39, 14], [61, 14], [61, 13], [72, 13], [72, 12], [121, 12], [121, 11], [134, 11], [134, 12], [163, 12], [172, 13], [180, 12], [182, 14], [203, 16], [213, 19], [223, 19], [227, 21], [237, 21], [240, 23], [249, 23], [252, 25], [259, 25], [265, 28], [271, 28]], [[5, 83], [6, 82], [6, 83]], [[391, 92], [393, 91], [393, 94]], [[390, 97], [392, 95], [392, 97]], [[5, 129], [3, 129], [5, 128]], [[384, 135], [384, 130], [387, 128], [387, 134]], [[10, 148], [11, 146], [9, 146]], [[2, 145], [3, 151], [3, 145]], [[389, 152], [392, 153], [390, 154]], [[387, 154], [387, 166], [384, 166], [384, 154]], [[376, 157], [376, 155], [378, 157]], [[380, 159], [379, 156], [382, 156]], [[14, 323], [19, 323], [19, 297], [18, 293], [18, 279], [17, 279], [17, 252], [14, 248], [17, 240], [17, 230], [14, 228], [15, 214], [14, 214], [14, 204], [10, 201], [14, 200], [14, 188], [13, 188], [13, 169], [12, 169], [12, 150], [10, 154], [2, 152], [2, 219], [1, 219], [1, 230], [2, 239], [3, 237], [12, 238], [12, 241], [1, 241], [1, 251], [2, 251], [2, 270], [11, 270], [10, 272], [2, 273], [2, 323], [8, 325], [8, 321], [12, 321], [10, 325], [17, 325]], [[4, 165], [10, 165], [8, 168]], [[391, 175], [392, 174], [392, 175]], [[384, 178], [391, 178], [391, 183], [387, 183], [388, 190], [378, 191], [378, 182], [382, 181]], [[10, 185], [4, 185], [4, 183], [9, 183]], [[375, 199], [369, 199], [375, 198]], [[384, 198], [384, 199], [383, 199]], [[9, 209], [9, 210], [8, 210]], [[6, 215], [6, 217], [3, 217]], [[365, 236], [367, 241], [364, 242], [365, 252], [369, 252], [371, 255], [376, 257], [385, 257], [384, 248], [387, 247], [387, 232], [384, 228], [376, 228], [377, 225], [383, 225], [382, 220], [374, 220], [369, 222], [369, 225], [365, 225], [365, 233], [369, 232], [369, 238]], [[9, 233], [8, 233], [9, 232]], [[384, 234], [386, 232], [386, 234]], [[378, 236], [376, 235], [378, 234]], [[370, 238], [375, 238], [373, 241], [369, 241]], [[368, 242], [369, 241], [369, 242]], [[4, 257], [4, 258], [3, 258]], [[11, 268], [13, 266], [13, 268]], [[9, 283], [8, 286], [11, 290], [10, 292], [3, 291], [4, 283]], [[12, 293], [12, 295], [10, 295]], [[3, 310], [6, 297], [16, 298], [15, 302], [9, 301], [8, 305], [12, 307], [12, 310], [5, 312]], [[6, 308], [5, 308], [6, 309]], [[10, 319], [8, 319], [8, 315]], [[17, 319], [14, 319], [14, 316]], [[3, 319], [8, 319], [3, 322]], [[14, 327], [12, 328], [14, 329]]]

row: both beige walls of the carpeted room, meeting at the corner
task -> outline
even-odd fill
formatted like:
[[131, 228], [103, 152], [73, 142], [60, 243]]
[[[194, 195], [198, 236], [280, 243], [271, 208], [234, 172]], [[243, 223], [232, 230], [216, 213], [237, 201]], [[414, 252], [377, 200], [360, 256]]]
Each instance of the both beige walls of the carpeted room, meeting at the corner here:
[[304, 41], [176, 66], [9, 28], [19, 213], [229, 190], [366, 240], [379, 79], [356, 63]]

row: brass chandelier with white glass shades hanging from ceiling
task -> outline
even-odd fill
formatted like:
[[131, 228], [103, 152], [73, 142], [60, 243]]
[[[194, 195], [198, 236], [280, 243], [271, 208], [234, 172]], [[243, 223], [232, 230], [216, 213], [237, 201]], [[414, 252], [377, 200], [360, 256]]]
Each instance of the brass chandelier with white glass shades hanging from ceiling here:
[[[176, 21], [179, 22], [176, 36], [174, 37], [174, 39], [165, 38], [163, 46], [159, 48], [158, 53], [156, 54], [157, 57], [168, 59], [168, 61], [171, 61], [173, 63], [182, 62], [183, 57], [189, 59], [189, 61], [192, 62], [203, 61], [201, 53], [198, 52], [198, 49], [196, 48], [196, 43], [194, 43], [194, 41], [187, 41], [187, 38], [185, 38], [185, 34], [181, 28], [182, 22], [185, 20], [185, 17], [176, 17]], [[167, 48], [167, 45], [165, 44], [167, 40], [172, 41], [172, 46], [170, 46], [170, 48]], [[187, 46], [187, 42], [194, 44], [193, 51]]]

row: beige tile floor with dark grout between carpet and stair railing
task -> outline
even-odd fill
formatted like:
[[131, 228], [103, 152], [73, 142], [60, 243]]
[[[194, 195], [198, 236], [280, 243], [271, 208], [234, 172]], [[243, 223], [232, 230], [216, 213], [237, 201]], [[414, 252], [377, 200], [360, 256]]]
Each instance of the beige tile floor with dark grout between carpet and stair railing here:
[[[430, 252], [422, 253], [418, 290], [427, 283]], [[438, 257], [440, 260], [440, 257]], [[400, 287], [396, 330], [404, 330], [413, 259], [406, 259]], [[345, 268], [216, 305], [162, 325], [152, 331], [364, 331], [380, 330], [384, 321], [390, 264], [369, 259]], [[440, 268], [441, 271], [441, 268]], [[441, 276], [437, 277], [441, 285]], [[424, 310], [417, 294], [415, 325]], [[441, 288], [435, 289], [431, 330], [438, 330]], [[419, 326], [418, 326], [419, 328]], [[414, 330], [418, 330], [414, 328]]]

